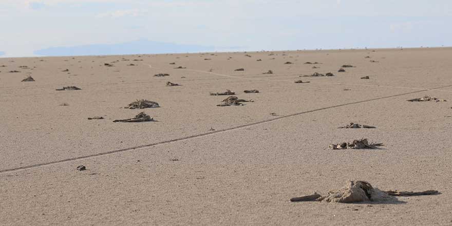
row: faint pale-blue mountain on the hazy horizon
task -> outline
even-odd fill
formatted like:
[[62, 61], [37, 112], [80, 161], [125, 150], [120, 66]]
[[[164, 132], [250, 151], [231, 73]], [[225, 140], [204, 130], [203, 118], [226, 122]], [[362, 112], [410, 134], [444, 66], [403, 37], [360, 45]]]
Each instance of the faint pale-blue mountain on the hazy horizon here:
[[123, 54], [156, 54], [214, 51], [214, 46], [183, 45], [176, 43], [153, 42], [139, 40], [119, 44], [93, 44], [71, 47], [51, 47], [34, 51], [42, 56], [69, 55], [123, 55]]

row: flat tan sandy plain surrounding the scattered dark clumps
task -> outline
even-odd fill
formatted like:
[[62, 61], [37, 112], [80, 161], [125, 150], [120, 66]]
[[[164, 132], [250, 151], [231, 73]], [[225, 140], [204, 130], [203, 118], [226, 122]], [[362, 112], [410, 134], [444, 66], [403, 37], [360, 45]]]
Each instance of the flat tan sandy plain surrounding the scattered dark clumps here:
[[[452, 224], [452, 104], [406, 101], [452, 101], [451, 48], [270, 53], [0, 59], [0, 225]], [[254, 102], [215, 106], [226, 89]], [[112, 122], [140, 111], [156, 122]], [[328, 149], [361, 138], [384, 146]], [[441, 194], [289, 202], [347, 180]]]

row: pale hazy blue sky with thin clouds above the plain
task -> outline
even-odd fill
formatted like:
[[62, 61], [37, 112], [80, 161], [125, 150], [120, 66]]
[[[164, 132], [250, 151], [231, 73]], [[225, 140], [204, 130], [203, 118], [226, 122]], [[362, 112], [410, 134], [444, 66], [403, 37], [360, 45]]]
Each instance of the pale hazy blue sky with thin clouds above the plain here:
[[218, 51], [452, 46], [452, 1], [0, 0], [0, 24], [4, 56], [137, 40]]

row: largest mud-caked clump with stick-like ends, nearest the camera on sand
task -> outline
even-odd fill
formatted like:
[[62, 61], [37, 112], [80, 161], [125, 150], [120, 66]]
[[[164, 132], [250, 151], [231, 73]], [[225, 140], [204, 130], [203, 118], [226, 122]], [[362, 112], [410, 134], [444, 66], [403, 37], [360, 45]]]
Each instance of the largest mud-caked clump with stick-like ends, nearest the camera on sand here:
[[399, 191], [382, 191], [376, 187], [372, 187], [369, 182], [361, 180], [351, 180], [340, 190], [330, 191], [328, 195], [321, 196], [317, 193], [307, 196], [291, 198], [291, 202], [301, 201], [325, 201], [325, 202], [394, 202], [397, 198], [394, 196], [417, 196], [417, 195], [438, 195], [435, 190], [423, 192], [399, 192]]

